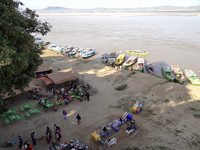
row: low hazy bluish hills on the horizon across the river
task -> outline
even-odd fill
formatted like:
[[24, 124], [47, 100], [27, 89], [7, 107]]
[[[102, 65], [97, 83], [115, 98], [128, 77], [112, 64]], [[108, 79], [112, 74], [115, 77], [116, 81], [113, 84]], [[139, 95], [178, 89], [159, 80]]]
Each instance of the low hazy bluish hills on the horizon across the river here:
[[178, 6], [158, 6], [158, 7], [138, 7], [138, 8], [93, 8], [75, 9], [65, 7], [47, 7], [36, 9], [37, 13], [130, 13], [130, 12], [200, 12], [200, 5], [190, 7]]

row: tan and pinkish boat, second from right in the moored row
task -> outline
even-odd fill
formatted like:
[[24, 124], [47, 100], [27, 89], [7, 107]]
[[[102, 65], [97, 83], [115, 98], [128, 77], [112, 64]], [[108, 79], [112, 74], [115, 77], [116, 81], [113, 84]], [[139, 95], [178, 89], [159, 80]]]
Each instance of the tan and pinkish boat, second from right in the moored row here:
[[181, 68], [178, 65], [172, 65], [171, 69], [173, 71], [173, 74], [175, 75], [175, 80], [183, 84], [185, 82], [185, 77]]

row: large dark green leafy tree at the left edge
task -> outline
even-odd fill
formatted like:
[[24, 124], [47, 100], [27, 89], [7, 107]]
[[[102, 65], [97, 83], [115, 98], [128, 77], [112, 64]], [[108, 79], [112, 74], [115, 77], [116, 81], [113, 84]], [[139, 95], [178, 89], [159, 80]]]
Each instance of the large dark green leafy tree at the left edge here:
[[51, 26], [38, 20], [35, 11], [21, 9], [23, 3], [0, 1], [0, 102], [5, 93], [23, 90], [42, 63], [42, 47], [33, 34], [45, 35]]

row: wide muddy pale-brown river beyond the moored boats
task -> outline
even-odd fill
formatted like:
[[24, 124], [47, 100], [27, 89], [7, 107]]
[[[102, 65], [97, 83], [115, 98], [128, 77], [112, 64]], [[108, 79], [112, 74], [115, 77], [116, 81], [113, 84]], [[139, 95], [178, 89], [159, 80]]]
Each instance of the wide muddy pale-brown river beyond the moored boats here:
[[41, 15], [52, 25], [44, 40], [59, 46], [94, 48], [102, 53], [140, 49], [147, 60], [191, 68], [200, 76], [200, 16]]

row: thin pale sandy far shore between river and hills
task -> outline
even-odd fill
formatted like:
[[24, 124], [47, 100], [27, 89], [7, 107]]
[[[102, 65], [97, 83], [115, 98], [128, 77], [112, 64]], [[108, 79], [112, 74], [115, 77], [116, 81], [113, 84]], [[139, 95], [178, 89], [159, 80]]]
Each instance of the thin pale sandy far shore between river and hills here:
[[38, 13], [48, 16], [200, 16], [200, 12]]

